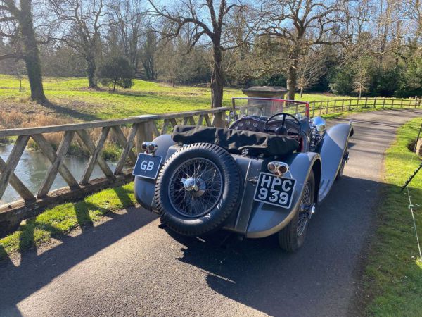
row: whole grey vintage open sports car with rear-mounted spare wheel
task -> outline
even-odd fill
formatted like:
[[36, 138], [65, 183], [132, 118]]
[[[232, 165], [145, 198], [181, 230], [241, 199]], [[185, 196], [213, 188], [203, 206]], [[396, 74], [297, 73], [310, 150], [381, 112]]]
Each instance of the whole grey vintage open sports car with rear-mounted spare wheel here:
[[172, 135], [144, 142], [134, 168], [136, 199], [180, 235], [278, 234], [280, 247], [295, 251], [343, 174], [352, 123], [326, 129], [323, 118], [309, 118], [306, 102], [233, 103], [228, 128], [177, 125]]

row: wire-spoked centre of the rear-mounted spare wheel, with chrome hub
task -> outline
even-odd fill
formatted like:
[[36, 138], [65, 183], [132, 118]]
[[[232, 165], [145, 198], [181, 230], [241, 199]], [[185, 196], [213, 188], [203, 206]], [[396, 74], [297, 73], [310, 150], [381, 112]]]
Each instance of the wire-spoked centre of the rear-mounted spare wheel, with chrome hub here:
[[189, 159], [174, 170], [168, 194], [177, 213], [195, 218], [209, 213], [222, 197], [223, 177], [205, 158]]

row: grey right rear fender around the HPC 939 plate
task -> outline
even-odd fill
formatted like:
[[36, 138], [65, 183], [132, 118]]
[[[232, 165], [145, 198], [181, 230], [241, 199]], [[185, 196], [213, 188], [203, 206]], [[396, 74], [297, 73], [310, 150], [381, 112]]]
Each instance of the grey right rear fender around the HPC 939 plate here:
[[[254, 201], [253, 195], [252, 197], [249, 196], [249, 206], [251, 206], [252, 212], [250, 213], [246, 237], [267, 237], [279, 232], [290, 222], [300, 206], [303, 185], [305, 184], [309, 173], [314, 168], [314, 165], [318, 165], [319, 161], [319, 154], [313, 152], [292, 154], [288, 156], [288, 159], [283, 160], [283, 162], [288, 163], [290, 166], [285, 177], [293, 178], [296, 181], [292, 204], [289, 209], [285, 209]], [[265, 164], [262, 164], [262, 171], [267, 171], [267, 166]], [[315, 171], [318, 173], [319, 169], [316, 168]], [[243, 205], [248, 206], [248, 204]], [[239, 214], [244, 212], [245, 211], [240, 210]]]

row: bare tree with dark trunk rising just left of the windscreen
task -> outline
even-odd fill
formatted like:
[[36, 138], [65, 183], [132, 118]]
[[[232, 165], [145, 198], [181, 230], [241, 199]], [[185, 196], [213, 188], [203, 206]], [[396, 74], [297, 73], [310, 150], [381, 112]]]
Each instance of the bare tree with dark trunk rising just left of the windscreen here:
[[191, 46], [194, 46], [201, 37], [210, 39], [212, 46], [212, 76], [211, 76], [211, 105], [221, 107], [224, 88], [223, 54], [233, 46], [226, 46], [224, 35], [227, 31], [227, 18], [233, 8], [241, 8], [243, 5], [235, 1], [228, 4], [226, 0], [219, 1], [219, 5], [213, 0], [188, 0], [177, 1], [172, 8], [159, 7], [153, 0], [148, 0], [153, 7], [153, 15], [162, 18], [168, 27], [163, 32], [164, 37], [176, 37], [181, 30], [191, 25]]

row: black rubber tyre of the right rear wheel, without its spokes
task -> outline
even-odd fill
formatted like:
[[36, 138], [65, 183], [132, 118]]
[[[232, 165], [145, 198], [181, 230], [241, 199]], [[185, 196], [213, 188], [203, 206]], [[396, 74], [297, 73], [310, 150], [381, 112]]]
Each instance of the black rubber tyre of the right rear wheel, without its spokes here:
[[[309, 184], [309, 201], [304, 201], [304, 203], [314, 204], [314, 194], [315, 194], [315, 176], [314, 172], [311, 170], [307, 181], [305, 182], [305, 186]], [[306, 191], [305, 189], [302, 192], [302, 197], [300, 198], [302, 201], [305, 199]], [[306, 197], [307, 198], [307, 197]], [[301, 205], [303, 203], [301, 202]], [[298, 210], [293, 217], [293, 219], [279, 232], [279, 245], [281, 249], [288, 252], [297, 251], [300, 247], [302, 247], [303, 243], [305, 242], [307, 227], [309, 224], [309, 218], [305, 223], [305, 228], [301, 231], [301, 234], [298, 234], [298, 225], [301, 216], [305, 216], [304, 213], [311, 212], [310, 210], [303, 211]]]

